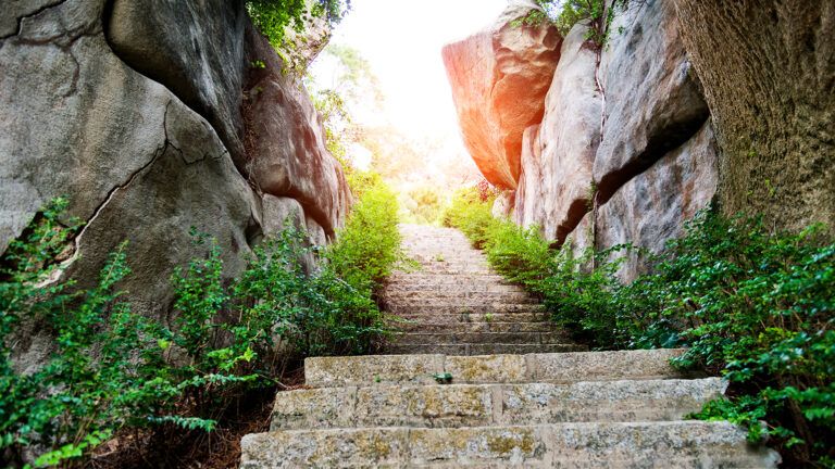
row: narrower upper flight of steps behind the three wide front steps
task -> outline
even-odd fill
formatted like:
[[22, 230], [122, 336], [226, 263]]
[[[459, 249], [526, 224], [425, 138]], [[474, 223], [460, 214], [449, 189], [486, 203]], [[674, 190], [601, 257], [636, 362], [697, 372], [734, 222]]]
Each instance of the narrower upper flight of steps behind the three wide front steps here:
[[585, 350], [549, 320], [536, 299], [507, 282], [461, 231], [402, 225], [403, 249], [420, 263], [396, 272], [384, 309], [407, 322], [384, 353], [525, 354]]

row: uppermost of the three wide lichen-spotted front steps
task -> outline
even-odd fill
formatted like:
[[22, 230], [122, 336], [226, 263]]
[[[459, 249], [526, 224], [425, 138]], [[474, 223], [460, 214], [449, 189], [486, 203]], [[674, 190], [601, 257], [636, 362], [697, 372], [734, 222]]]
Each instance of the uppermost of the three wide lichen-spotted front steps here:
[[435, 384], [433, 375], [444, 372], [451, 373], [460, 384], [675, 379], [683, 375], [670, 365], [670, 358], [683, 352], [660, 348], [490, 356], [312, 357], [304, 360], [304, 382], [312, 388], [372, 382]]

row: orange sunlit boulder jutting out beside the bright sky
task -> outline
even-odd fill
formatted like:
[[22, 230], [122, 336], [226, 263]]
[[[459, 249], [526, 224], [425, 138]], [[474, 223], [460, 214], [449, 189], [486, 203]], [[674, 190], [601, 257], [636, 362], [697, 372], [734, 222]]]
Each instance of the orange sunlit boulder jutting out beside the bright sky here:
[[443, 51], [464, 142], [487, 180], [503, 189], [516, 188], [522, 132], [541, 121], [559, 59], [553, 26], [516, 24], [537, 8], [513, 1], [493, 26]]

